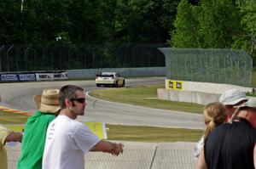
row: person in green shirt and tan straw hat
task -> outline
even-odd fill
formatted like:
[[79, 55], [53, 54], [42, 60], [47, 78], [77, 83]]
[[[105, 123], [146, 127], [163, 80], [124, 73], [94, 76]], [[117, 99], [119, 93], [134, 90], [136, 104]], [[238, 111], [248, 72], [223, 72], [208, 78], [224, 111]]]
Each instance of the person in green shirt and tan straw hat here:
[[44, 89], [42, 95], [34, 96], [34, 102], [38, 110], [26, 121], [18, 169], [42, 168], [47, 127], [61, 110], [60, 90]]

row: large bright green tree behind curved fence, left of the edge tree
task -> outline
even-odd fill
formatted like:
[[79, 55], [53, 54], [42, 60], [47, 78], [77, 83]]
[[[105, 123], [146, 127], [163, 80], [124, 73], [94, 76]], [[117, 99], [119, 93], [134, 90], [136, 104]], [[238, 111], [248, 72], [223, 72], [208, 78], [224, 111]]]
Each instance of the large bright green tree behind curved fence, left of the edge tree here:
[[177, 48], [231, 48], [241, 32], [241, 14], [230, 0], [182, 0], [174, 22], [172, 45]]

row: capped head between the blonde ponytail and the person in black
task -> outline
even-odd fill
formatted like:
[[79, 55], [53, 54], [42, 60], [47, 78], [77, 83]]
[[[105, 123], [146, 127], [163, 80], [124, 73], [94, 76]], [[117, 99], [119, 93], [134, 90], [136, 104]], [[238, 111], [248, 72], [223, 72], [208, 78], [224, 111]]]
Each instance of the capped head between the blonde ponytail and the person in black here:
[[245, 103], [248, 99], [245, 92], [234, 88], [221, 94], [218, 100], [226, 107], [228, 112], [228, 119], [230, 119], [236, 110], [236, 107]]

